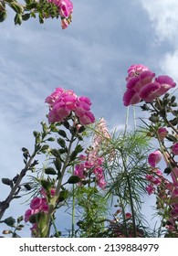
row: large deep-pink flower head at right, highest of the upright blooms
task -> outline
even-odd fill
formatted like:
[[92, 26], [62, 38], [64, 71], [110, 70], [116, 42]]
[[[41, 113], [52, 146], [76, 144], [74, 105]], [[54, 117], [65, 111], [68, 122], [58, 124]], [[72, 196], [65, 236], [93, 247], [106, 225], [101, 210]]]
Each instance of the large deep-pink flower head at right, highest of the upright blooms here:
[[141, 64], [131, 66], [126, 80], [127, 90], [122, 99], [124, 106], [137, 104], [140, 101], [152, 102], [176, 85], [168, 76], [155, 78], [155, 73]]

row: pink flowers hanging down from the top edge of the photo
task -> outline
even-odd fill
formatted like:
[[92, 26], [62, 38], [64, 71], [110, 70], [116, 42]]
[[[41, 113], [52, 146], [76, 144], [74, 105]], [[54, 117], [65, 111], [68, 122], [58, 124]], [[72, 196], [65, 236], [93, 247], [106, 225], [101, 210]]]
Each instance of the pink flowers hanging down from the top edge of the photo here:
[[61, 17], [61, 26], [63, 29], [67, 28], [72, 18], [72, 2], [70, 0], [48, 0], [48, 2], [58, 6], [58, 13]]

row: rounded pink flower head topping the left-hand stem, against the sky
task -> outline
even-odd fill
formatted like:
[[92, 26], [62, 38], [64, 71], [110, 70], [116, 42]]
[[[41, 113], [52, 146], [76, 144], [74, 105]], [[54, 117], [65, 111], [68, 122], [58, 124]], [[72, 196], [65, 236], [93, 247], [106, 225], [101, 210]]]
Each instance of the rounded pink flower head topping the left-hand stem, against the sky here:
[[46, 102], [49, 104], [49, 123], [64, 122], [71, 112], [75, 113], [81, 125], [95, 121], [94, 115], [90, 112], [91, 101], [89, 98], [78, 97], [74, 91], [57, 88], [47, 96]]

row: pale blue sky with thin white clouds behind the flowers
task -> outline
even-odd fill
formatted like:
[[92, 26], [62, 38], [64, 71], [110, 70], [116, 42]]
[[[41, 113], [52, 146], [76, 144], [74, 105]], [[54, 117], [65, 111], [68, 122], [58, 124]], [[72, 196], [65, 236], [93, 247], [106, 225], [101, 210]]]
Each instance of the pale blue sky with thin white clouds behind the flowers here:
[[[21, 148], [33, 149], [32, 133], [47, 121], [45, 99], [57, 87], [88, 96], [96, 118], [122, 130], [122, 95], [132, 64], [178, 82], [177, 0], [73, 0], [73, 5], [73, 21], [65, 30], [50, 18], [44, 25], [30, 19], [15, 26], [10, 9], [0, 24], [1, 177], [14, 177], [23, 168]], [[142, 116], [139, 108], [136, 116]], [[132, 114], [129, 120], [132, 129]], [[7, 193], [0, 185], [0, 201]], [[17, 216], [18, 210], [15, 202], [6, 216]]]

